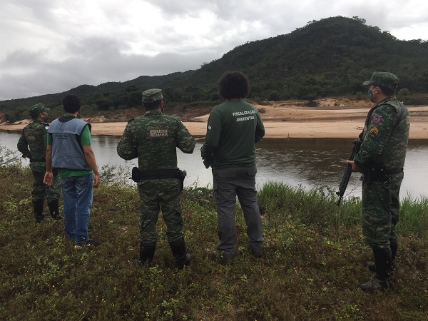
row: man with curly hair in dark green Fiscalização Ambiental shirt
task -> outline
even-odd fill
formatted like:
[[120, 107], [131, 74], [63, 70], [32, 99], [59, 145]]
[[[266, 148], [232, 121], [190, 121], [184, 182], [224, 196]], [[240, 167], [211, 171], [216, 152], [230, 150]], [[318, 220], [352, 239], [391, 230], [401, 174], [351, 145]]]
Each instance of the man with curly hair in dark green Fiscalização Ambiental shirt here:
[[255, 188], [255, 143], [265, 136], [258, 110], [243, 101], [248, 96], [248, 78], [239, 71], [223, 73], [220, 95], [225, 102], [215, 106], [207, 124], [205, 143], [200, 149], [206, 168], [213, 170], [213, 189], [218, 217], [220, 263], [235, 256], [236, 197], [247, 224], [248, 248], [256, 257], [263, 255], [263, 228]]

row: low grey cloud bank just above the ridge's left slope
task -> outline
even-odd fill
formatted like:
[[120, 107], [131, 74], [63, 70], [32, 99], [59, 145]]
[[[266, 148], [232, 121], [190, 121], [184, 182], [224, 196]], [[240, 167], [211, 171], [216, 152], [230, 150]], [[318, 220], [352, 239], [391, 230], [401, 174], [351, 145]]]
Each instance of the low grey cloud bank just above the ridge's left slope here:
[[[199, 68], [217, 57], [215, 51], [156, 56], [121, 53], [118, 41], [88, 38], [69, 44], [69, 57], [46, 58], [44, 51], [14, 51], [0, 63], [0, 99], [57, 93], [82, 84], [128, 81], [142, 75], [165, 75]], [[46, 91], [49, 88], [49, 91]]]

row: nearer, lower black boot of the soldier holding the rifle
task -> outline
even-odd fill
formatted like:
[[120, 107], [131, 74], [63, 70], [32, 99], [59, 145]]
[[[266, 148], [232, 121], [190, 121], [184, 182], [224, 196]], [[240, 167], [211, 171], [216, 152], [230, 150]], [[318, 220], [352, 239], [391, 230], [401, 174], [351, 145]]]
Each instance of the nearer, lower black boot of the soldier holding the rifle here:
[[392, 289], [394, 285], [391, 282], [390, 272], [392, 264], [391, 248], [373, 248], [373, 255], [376, 272], [372, 280], [360, 285], [361, 289], [366, 292]]

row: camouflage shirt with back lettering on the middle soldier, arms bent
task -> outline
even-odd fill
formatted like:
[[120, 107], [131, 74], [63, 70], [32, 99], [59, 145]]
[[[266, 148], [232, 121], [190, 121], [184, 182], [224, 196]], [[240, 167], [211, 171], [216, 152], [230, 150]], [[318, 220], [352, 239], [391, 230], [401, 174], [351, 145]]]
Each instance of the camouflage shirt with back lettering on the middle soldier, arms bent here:
[[152, 110], [128, 121], [117, 152], [127, 161], [138, 157], [140, 170], [165, 169], [177, 168], [177, 147], [193, 153], [195, 138], [179, 118]]

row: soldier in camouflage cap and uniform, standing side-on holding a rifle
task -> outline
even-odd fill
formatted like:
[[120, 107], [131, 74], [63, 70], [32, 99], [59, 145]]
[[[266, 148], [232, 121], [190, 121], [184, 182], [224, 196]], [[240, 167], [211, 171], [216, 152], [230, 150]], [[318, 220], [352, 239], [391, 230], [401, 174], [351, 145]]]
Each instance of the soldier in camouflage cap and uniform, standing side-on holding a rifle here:
[[370, 101], [376, 103], [367, 114], [360, 151], [352, 170], [362, 172], [362, 233], [373, 250], [374, 262], [366, 266], [372, 280], [360, 285], [372, 292], [393, 287], [391, 272], [397, 255], [395, 226], [399, 220], [399, 188], [404, 176], [409, 111], [395, 98], [397, 76], [375, 71], [369, 86]]

